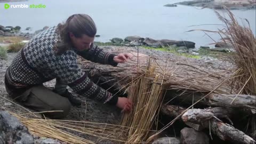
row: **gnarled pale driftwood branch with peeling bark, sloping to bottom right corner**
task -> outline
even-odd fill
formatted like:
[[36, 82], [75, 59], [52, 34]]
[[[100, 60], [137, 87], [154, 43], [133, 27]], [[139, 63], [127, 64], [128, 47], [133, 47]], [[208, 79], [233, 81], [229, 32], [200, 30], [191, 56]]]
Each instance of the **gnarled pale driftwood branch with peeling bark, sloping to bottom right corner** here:
[[209, 128], [210, 121], [211, 132], [222, 140], [234, 143], [256, 143], [249, 135], [235, 129], [232, 125], [221, 122], [214, 116], [211, 109], [189, 109], [182, 115], [182, 120], [183, 122], [201, 124], [205, 128]]

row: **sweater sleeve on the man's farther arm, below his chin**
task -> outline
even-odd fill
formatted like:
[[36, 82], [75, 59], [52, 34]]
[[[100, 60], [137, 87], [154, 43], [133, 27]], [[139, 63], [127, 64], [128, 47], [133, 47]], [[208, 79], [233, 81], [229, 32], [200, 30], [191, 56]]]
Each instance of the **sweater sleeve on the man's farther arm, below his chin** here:
[[85, 51], [77, 51], [78, 55], [83, 57], [86, 60], [90, 60], [92, 62], [97, 62], [105, 65], [117, 66], [117, 62], [114, 61], [114, 57], [116, 54], [111, 54], [109, 52], [103, 51], [99, 46], [91, 44], [91, 47]]

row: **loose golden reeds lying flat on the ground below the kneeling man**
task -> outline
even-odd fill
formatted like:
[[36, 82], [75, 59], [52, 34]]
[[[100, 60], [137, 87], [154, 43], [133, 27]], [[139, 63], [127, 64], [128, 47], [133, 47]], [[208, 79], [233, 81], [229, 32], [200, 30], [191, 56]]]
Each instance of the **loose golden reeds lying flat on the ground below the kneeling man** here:
[[[113, 124], [26, 118], [22, 115], [11, 114], [27, 126], [32, 134], [39, 137], [58, 139], [67, 143], [95, 143], [95, 141], [100, 142], [101, 140], [124, 143], [126, 141], [125, 135], [130, 129], [130, 127]], [[88, 136], [93, 137], [95, 141], [85, 139]]]

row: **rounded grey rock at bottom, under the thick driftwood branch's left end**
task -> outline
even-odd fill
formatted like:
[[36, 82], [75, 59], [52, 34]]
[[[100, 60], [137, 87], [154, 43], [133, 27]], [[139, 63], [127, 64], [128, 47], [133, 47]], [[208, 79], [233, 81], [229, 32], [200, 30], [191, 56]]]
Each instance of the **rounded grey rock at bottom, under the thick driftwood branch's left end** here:
[[209, 143], [208, 136], [203, 133], [196, 131], [192, 128], [185, 127], [180, 131], [180, 142], [181, 143]]

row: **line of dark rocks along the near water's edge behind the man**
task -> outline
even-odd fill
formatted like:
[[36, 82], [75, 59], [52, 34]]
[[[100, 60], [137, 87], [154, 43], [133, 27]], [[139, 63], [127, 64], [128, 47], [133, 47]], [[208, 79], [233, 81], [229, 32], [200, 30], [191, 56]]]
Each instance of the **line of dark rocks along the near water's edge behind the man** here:
[[[21, 38], [23, 41], [26, 42], [29, 41], [29, 39], [32, 39], [37, 34], [41, 33], [41, 31], [44, 31], [48, 29], [48, 26], [43, 27], [42, 29], [36, 30], [35, 33], [29, 33], [30, 27], [27, 27], [25, 31], [27, 32], [21, 32], [20, 26], [1, 26], [0, 25], [0, 46], [5, 46], [9, 43], [17, 43], [17, 42], [10, 42], [6, 41], [5, 39], [9, 39], [12, 37]], [[100, 37], [100, 35], [96, 35], [96, 37]], [[97, 45], [115, 45], [115, 46], [144, 46], [144, 47], [153, 47], [153, 48], [165, 48], [165, 49], [175, 49], [178, 53], [195, 53], [200, 48], [201, 49], [210, 49], [211, 51], [220, 51], [220, 52], [230, 52], [232, 51], [232, 47], [226, 43], [220, 42], [215, 44], [215, 47], [209, 47], [209, 46], [201, 46], [201, 47], [195, 47], [194, 42], [190, 41], [175, 41], [173, 39], [153, 39], [150, 37], [140, 37], [137, 35], [134, 36], [127, 36], [124, 39], [123, 38], [112, 38], [109, 39], [109, 42], [102, 43], [102, 42], [95, 42]]]

